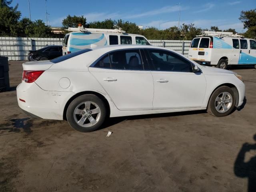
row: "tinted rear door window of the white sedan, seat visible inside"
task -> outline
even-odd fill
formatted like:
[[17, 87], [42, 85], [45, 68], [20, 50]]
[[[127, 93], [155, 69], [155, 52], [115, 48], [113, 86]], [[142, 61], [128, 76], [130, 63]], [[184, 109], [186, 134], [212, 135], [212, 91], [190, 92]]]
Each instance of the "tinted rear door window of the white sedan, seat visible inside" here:
[[109, 54], [112, 69], [143, 70], [140, 50], [120, 50]]

